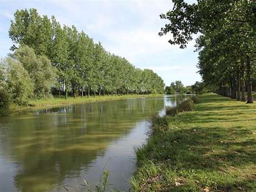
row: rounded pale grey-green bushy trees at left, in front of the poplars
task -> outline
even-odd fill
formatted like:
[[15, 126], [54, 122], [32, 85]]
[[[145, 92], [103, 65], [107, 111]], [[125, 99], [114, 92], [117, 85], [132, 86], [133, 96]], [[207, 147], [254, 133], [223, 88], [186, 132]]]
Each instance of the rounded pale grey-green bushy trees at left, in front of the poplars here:
[[21, 46], [1, 61], [0, 92], [2, 107], [9, 102], [28, 105], [32, 99], [49, 97], [55, 68], [46, 56], [36, 56], [32, 48]]

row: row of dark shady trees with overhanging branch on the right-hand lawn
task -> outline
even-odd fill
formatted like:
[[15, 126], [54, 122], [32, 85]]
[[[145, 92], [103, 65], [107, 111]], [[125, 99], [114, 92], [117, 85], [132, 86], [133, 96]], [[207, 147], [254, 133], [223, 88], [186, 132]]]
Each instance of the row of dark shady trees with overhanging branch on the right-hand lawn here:
[[170, 22], [159, 35], [172, 33], [169, 42], [180, 48], [185, 48], [197, 35], [198, 68], [204, 84], [215, 87], [221, 95], [252, 103], [252, 82], [256, 79], [256, 2], [173, 0], [173, 3], [171, 11], [160, 15]]

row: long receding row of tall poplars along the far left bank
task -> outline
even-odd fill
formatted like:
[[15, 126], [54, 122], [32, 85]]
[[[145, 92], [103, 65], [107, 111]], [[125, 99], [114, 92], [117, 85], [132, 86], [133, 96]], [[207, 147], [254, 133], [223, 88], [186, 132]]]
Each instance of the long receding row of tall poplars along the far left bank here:
[[[10, 56], [12, 61], [9, 58], [6, 62], [15, 60], [22, 63], [35, 85], [33, 96], [36, 98], [51, 93], [76, 97], [77, 94], [164, 92], [163, 80], [152, 70], [135, 68], [125, 58], [105, 51], [100, 42], [93, 42], [75, 26], [61, 26], [55, 17], [40, 16], [36, 9], [22, 9], [14, 13], [9, 37], [14, 43], [11, 47], [14, 53]], [[31, 56], [33, 61], [29, 60]], [[41, 70], [47, 74], [45, 78], [41, 74], [41, 81], [37, 81], [39, 63], [47, 60], [45, 56], [52, 67], [41, 65], [48, 66], [47, 70]], [[40, 87], [40, 84], [47, 87]]]

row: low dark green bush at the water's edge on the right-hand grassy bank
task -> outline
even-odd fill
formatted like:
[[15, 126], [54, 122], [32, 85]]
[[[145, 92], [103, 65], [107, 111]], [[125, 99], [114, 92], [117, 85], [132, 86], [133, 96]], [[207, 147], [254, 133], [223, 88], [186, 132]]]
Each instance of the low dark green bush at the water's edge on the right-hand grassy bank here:
[[192, 111], [194, 104], [194, 100], [190, 98], [181, 102], [176, 107], [166, 107], [166, 115], [175, 116], [178, 115], [179, 112]]

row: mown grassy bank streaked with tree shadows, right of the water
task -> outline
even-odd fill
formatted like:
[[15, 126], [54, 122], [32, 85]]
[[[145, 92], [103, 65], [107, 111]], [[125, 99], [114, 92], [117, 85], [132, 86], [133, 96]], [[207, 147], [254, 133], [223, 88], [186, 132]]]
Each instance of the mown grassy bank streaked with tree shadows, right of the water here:
[[256, 191], [256, 104], [199, 101], [137, 150], [135, 191]]

